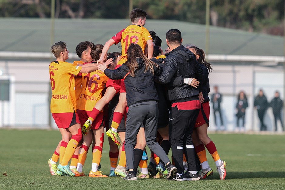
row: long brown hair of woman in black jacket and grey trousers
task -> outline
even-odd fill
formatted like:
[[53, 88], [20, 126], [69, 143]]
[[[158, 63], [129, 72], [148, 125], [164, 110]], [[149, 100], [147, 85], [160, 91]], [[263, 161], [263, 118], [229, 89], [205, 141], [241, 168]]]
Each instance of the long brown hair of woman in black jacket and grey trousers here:
[[135, 70], [138, 69], [139, 67], [138, 62], [136, 61], [137, 57], [143, 59], [143, 63], [146, 65], [145, 73], [147, 71], [150, 71], [154, 75], [153, 66], [159, 67], [156, 63], [147, 59], [147, 57], [143, 54], [143, 49], [138, 44], [131, 43], [129, 45], [129, 48], [127, 50], [127, 57], [128, 60], [126, 61], [125, 64], [127, 64], [127, 66], [129, 67], [130, 75], [132, 77], [135, 76]]

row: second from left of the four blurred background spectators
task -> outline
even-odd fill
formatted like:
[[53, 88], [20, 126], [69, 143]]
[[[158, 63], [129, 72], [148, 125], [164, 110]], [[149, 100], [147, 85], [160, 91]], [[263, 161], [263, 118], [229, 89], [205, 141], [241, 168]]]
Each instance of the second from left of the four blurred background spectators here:
[[[237, 117], [237, 125], [236, 131], [244, 132], [244, 117], [245, 117], [245, 109], [248, 107], [247, 97], [243, 91], [239, 93], [237, 96], [237, 103], [236, 103], [236, 117]], [[240, 127], [240, 119], [242, 119], [242, 127]]]

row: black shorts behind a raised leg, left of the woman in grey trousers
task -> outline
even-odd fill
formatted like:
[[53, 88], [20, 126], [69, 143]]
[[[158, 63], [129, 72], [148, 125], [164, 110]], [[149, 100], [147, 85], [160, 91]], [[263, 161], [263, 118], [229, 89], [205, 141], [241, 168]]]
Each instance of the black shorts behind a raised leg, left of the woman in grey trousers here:
[[[109, 123], [109, 126], [108, 126], [108, 129], [111, 127], [113, 117], [114, 117], [114, 110], [115, 110], [116, 106], [118, 105], [119, 97], [120, 97], [120, 94], [118, 93], [109, 102], [109, 106], [108, 106], [108, 121], [109, 121], [108, 123]], [[125, 132], [125, 131], [126, 131], [125, 116], [123, 116], [121, 123], [119, 124], [117, 132]]]

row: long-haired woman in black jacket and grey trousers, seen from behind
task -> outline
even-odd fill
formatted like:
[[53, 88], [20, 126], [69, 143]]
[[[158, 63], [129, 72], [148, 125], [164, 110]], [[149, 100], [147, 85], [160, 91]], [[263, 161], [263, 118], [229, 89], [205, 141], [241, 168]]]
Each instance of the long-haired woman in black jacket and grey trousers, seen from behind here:
[[[136, 180], [135, 171], [138, 166], [134, 165], [134, 147], [136, 136], [141, 125], [144, 125], [146, 144], [166, 163], [168, 170], [167, 178], [176, 175], [176, 170], [171, 165], [167, 155], [156, 142], [157, 119], [158, 119], [158, 96], [154, 87], [154, 74], [159, 74], [159, 67], [147, 59], [138, 44], [131, 43], [127, 50], [128, 60], [118, 69], [111, 71], [104, 65], [99, 65], [100, 70], [113, 79], [125, 78], [126, 98], [129, 106], [127, 112], [125, 150], [127, 170], [129, 174], [126, 180]], [[141, 81], [144, 81], [143, 83]], [[140, 158], [143, 151], [140, 152]]]

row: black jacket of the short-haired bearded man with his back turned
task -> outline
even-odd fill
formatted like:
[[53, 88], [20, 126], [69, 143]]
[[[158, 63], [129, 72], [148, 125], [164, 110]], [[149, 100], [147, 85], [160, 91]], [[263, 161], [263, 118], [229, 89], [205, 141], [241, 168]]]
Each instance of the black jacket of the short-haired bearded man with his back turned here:
[[[177, 77], [196, 78], [202, 81], [203, 70], [193, 53], [183, 45], [178, 46], [166, 54], [161, 75], [156, 79], [163, 84], [168, 84]], [[171, 103], [198, 100], [199, 88], [188, 84], [176, 87], [168, 85], [167, 98]]]

